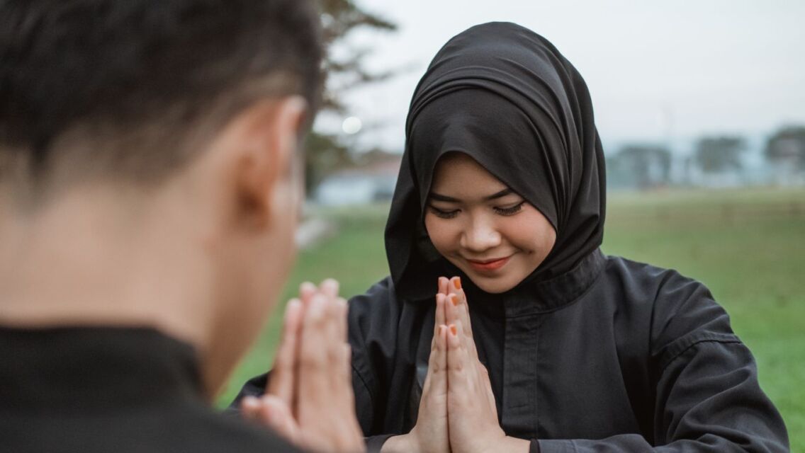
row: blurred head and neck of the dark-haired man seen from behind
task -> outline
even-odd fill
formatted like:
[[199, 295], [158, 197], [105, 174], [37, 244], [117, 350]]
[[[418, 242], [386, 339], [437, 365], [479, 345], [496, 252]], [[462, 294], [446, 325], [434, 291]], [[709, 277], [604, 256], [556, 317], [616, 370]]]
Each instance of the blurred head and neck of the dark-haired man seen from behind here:
[[[156, 286], [166, 309], [206, 301], [214, 313], [196, 319], [210, 333], [205, 378], [220, 385], [295, 251], [295, 151], [320, 94], [312, 2], [0, 0], [0, 58], [0, 280], [14, 288], [0, 293], [6, 314], [25, 323], [51, 303], [42, 294], [61, 294], [48, 311], [72, 319], [66, 307], [81, 291], [60, 286], [61, 270], [74, 272], [60, 260], [108, 267], [111, 249], [137, 245], [143, 256], [114, 258], [131, 270], [116, 287], [145, 304], [154, 294], [142, 288]], [[69, 249], [82, 238], [97, 249]], [[39, 266], [41, 249], [53, 255], [41, 267], [56, 276], [43, 282], [50, 292], [20, 266]], [[105, 272], [97, 277], [109, 280]], [[182, 278], [195, 289], [171, 286]], [[16, 310], [23, 300], [28, 308]], [[93, 319], [115, 309], [133, 310]]]

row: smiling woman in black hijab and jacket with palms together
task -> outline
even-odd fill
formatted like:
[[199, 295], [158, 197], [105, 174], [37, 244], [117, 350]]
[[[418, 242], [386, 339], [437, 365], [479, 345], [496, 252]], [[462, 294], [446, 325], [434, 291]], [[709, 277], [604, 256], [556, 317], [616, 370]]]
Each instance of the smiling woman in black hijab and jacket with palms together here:
[[350, 301], [370, 446], [788, 450], [707, 288], [599, 250], [601, 142], [584, 80], [551, 43], [511, 23], [457, 35], [406, 134], [391, 276]]

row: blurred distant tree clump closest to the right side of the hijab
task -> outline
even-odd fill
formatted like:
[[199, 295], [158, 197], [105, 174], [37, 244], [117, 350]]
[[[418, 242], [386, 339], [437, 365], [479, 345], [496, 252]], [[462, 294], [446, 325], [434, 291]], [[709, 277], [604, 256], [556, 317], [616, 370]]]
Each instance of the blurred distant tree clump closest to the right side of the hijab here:
[[647, 189], [671, 181], [671, 151], [659, 145], [625, 145], [607, 162], [612, 187]]

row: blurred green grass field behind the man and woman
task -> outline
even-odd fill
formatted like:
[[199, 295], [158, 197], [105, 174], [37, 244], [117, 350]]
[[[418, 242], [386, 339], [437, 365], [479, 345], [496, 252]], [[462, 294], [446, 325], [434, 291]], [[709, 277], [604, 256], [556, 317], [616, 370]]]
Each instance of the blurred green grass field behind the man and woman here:
[[[303, 279], [341, 281], [358, 294], [388, 274], [387, 207], [324, 212], [336, 237], [300, 254], [283, 300]], [[805, 190], [669, 191], [609, 196], [605, 253], [679, 270], [706, 283], [758, 359], [792, 451], [805, 452]], [[278, 312], [279, 313], [279, 312]], [[220, 399], [269, 367], [279, 315]]]

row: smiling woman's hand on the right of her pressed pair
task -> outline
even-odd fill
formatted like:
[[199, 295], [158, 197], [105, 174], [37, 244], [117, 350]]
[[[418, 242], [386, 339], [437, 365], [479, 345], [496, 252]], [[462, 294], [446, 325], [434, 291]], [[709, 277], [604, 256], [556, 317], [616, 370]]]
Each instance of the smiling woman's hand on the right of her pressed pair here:
[[[489, 373], [478, 359], [469, 307], [460, 278], [451, 278], [440, 290], [448, 292], [448, 424], [453, 453], [506, 451], [523, 453], [530, 442], [506, 436], [497, 422], [497, 406]], [[445, 288], [445, 286], [447, 286]]]

